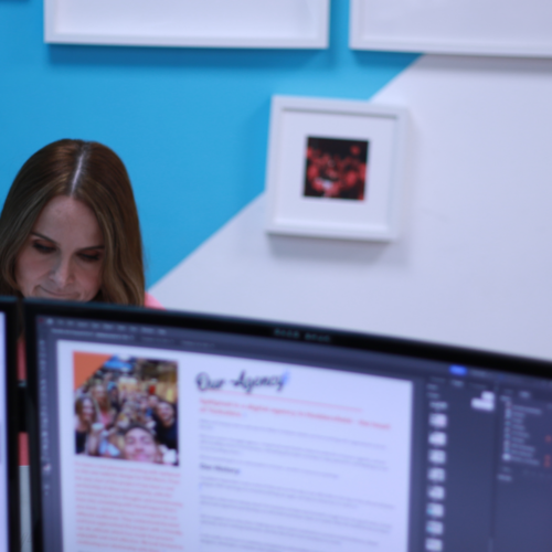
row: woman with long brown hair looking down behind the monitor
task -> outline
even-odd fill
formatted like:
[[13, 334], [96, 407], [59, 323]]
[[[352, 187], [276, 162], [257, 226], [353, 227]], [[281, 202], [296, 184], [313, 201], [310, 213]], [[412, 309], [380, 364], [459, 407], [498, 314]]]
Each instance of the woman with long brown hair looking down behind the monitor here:
[[0, 215], [0, 295], [145, 304], [138, 212], [114, 151], [60, 140], [23, 164]]

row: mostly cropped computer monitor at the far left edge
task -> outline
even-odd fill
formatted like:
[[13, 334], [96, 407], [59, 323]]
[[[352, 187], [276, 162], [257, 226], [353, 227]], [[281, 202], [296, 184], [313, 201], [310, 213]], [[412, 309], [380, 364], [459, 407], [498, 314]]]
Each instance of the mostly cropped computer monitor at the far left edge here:
[[20, 550], [17, 300], [0, 297], [0, 551]]

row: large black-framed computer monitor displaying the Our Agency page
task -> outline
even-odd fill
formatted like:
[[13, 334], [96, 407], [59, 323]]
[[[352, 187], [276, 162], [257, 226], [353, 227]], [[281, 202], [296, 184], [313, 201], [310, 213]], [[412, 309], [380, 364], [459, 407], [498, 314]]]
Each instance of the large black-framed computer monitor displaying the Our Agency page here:
[[552, 370], [28, 302], [36, 552], [549, 552]]

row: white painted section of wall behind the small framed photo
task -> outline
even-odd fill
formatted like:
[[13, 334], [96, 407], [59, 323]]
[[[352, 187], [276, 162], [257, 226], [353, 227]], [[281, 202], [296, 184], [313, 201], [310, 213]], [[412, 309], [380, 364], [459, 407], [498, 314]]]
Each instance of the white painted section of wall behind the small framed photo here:
[[423, 56], [401, 238], [268, 236], [264, 199], [161, 279], [167, 307], [552, 359], [552, 61]]

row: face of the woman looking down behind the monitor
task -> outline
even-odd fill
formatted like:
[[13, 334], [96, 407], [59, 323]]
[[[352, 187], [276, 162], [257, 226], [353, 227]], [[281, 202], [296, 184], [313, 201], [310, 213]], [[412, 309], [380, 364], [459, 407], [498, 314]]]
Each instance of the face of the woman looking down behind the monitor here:
[[93, 211], [59, 195], [42, 210], [15, 259], [23, 297], [92, 300], [102, 286], [104, 236]]

